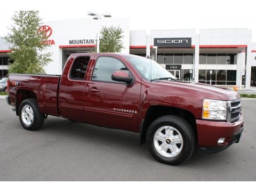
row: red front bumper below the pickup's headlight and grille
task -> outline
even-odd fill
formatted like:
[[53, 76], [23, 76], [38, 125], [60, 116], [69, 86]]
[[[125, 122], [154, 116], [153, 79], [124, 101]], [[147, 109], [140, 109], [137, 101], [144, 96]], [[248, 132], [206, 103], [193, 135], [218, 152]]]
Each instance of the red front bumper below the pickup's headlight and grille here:
[[[199, 147], [202, 150], [220, 151], [239, 142], [244, 129], [244, 117], [241, 114], [234, 123], [197, 119], [196, 125]], [[225, 138], [225, 141], [218, 144], [219, 138]]]

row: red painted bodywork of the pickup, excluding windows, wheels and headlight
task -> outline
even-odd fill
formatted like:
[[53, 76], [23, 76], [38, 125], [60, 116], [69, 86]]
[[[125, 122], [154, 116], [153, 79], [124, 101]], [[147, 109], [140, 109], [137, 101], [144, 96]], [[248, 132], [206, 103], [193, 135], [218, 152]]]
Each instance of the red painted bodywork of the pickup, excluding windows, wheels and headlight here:
[[[89, 56], [90, 62], [85, 79], [78, 81], [69, 78], [69, 71], [74, 59], [79, 56]], [[126, 85], [120, 82], [91, 81], [94, 65], [97, 59], [103, 56], [121, 60], [134, 76], [134, 83]], [[221, 137], [226, 137], [228, 142], [243, 124], [242, 116], [235, 123], [201, 119], [202, 103], [205, 98], [235, 100], [240, 98], [237, 92], [200, 83], [148, 82], [141, 78], [137, 70], [127, 61], [126, 55], [122, 54], [71, 54], [61, 77], [10, 74], [9, 79], [11, 82], [9, 97], [12, 106], [22, 99], [18, 91], [26, 90], [36, 95], [39, 110], [44, 114], [113, 129], [140, 132], [141, 120], [146, 118], [147, 110], [152, 106], [187, 110], [196, 119], [198, 144], [201, 147], [218, 147], [217, 140]], [[13, 81], [18, 82], [18, 86], [12, 85]]]

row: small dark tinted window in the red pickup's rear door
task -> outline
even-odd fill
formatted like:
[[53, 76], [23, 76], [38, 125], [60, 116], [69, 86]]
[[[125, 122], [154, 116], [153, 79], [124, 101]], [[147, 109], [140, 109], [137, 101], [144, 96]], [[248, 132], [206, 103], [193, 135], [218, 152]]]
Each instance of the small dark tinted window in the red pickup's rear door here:
[[90, 61], [90, 57], [76, 58], [70, 71], [70, 78], [84, 79], [89, 61]]

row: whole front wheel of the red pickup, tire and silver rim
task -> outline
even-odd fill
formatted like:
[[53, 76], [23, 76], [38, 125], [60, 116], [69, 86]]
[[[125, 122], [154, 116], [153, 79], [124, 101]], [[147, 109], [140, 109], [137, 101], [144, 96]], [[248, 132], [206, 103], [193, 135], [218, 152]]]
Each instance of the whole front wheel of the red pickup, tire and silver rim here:
[[175, 115], [159, 117], [151, 123], [146, 140], [151, 155], [169, 165], [187, 161], [194, 154], [196, 146], [191, 125]]

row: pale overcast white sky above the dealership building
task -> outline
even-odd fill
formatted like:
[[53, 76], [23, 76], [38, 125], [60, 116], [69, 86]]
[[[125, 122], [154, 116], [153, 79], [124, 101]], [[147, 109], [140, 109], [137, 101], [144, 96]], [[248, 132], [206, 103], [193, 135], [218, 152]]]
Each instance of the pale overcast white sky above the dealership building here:
[[[0, 36], [12, 23], [14, 11], [38, 10], [43, 21], [90, 18], [88, 11], [130, 18], [131, 30], [248, 28], [256, 42], [254, 0], [9, 0], [0, 3]], [[90, 26], [88, 26], [90, 27]]]

